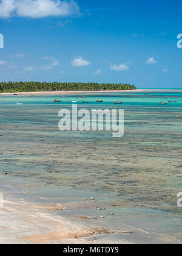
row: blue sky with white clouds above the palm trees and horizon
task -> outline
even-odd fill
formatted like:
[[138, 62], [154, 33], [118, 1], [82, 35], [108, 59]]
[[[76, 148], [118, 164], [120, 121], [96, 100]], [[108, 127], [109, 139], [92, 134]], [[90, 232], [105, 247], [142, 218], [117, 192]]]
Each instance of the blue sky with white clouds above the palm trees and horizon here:
[[1, 81], [182, 88], [181, 1], [0, 1]]

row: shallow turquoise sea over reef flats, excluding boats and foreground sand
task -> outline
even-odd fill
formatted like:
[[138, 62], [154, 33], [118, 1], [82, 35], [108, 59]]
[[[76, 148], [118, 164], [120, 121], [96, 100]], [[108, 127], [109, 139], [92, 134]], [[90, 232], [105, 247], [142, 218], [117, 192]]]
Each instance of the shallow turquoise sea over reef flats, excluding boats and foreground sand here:
[[[78, 202], [56, 212], [66, 218], [103, 215], [103, 226], [118, 228], [124, 222], [181, 241], [182, 90], [84, 95], [89, 104], [76, 94], [62, 102], [53, 102], [59, 95], [0, 96], [0, 185], [36, 204]], [[177, 102], [158, 105], [169, 100]], [[60, 132], [58, 112], [71, 110], [72, 101], [89, 110], [124, 109], [123, 138], [106, 131]], [[79, 207], [91, 196], [106, 209]]]

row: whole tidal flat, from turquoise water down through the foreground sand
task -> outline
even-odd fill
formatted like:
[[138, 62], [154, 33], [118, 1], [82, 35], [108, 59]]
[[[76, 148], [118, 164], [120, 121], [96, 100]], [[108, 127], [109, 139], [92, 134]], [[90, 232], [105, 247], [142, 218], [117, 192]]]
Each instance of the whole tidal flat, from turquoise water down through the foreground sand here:
[[[0, 243], [181, 243], [182, 90], [147, 93], [0, 96]], [[124, 109], [124, 137], [60, 132], [72, 101]]]

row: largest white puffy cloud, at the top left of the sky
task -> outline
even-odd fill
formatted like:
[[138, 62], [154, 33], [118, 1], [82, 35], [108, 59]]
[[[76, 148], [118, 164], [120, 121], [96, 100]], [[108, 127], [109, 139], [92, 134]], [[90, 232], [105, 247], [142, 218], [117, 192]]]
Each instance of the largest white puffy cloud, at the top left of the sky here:
[[74, 14], [79, 14], [79, 6], [74, 0], [1, 0], [0, 2], [0, 18], [15, 15], [29, 18], [66, 17]]

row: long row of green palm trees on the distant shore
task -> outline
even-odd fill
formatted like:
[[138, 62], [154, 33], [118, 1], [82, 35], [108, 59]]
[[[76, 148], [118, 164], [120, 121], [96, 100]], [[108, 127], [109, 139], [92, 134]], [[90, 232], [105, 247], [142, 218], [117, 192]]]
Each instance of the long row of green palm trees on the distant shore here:
[[27, 91], [113, 91], [136, 90], [129, 84], [97, 84], [97, 83], [47, 83], [47, 82], [1, 82], [1, 93], [27, 92]]

